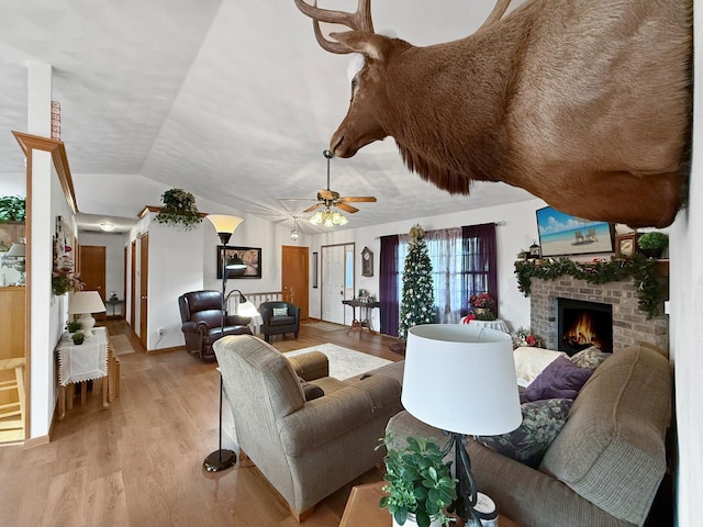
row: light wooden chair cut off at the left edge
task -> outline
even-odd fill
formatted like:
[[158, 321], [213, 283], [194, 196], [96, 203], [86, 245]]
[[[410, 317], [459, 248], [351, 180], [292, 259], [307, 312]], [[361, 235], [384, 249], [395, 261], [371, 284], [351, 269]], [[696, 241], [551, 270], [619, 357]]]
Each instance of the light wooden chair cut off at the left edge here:
[[[14, 372], [14, 379], [0, 380], [0, 393], [9, 393], [9, 396], [3, 396], [2, 404], [0, 404], [1, 441], [23, 441], [25, 439], [24, 365], [24, 357], [0, 359], [0, 372]], [[2, 379], [7, 379], [4, 373]], [[12, 392], [16, 392], [16, 397], [12, 396], [14, 395]]]

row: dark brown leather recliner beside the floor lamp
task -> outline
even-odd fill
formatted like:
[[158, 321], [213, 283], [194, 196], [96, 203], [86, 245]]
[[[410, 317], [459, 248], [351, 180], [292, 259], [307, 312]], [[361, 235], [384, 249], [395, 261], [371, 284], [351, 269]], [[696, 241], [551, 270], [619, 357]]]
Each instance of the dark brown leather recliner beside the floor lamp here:
[[227, 315], [222, 327], [222, 293], [191, 291], [178, 298], [180, 329], [186, 337], [186, 350], [201, 360], [214, 360], [212, 344], [225, 335], [252, 335], [247, 326], [250, 318]]

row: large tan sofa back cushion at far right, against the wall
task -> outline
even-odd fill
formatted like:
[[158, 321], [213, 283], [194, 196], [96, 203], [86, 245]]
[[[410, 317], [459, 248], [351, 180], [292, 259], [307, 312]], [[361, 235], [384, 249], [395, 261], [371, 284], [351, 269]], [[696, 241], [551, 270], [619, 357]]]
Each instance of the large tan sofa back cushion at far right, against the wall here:
[[644, 346], [617, 350], [579, 393], [539, 470], [643, 525], [667, 469], [670, 412], [669, 361]]

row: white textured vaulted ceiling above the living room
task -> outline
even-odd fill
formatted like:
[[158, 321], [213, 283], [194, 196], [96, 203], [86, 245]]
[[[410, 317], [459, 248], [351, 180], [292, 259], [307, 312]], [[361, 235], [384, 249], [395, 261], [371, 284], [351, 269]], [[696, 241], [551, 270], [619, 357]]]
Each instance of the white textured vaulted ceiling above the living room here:
[[[356, 0], [321, 7], [354, 10]], [[517, 2], [520, 3], [520, 2]], [[491, 0], [376, 0], [377, 31], [416, 45], [473, 32]], [[54, 68], [81, 226], [129, 225], [165, 188], [292, 227], [278, 198], [325, 187], [322, 150], [346, 113], [349, 56], [317, 46], [293, 0], [10, 0], [0, 7], [0, 175], [24, 171], [26, 64]], [[392, 138], [333, 159], [331, 188], [368, 195], [347, 227], [532, 199], [503, 183], [450, 197], [403, 166]], [[0, 193], [2, 193], [0, 191]], [[306, 232], [315, 232], [303, 226]]]

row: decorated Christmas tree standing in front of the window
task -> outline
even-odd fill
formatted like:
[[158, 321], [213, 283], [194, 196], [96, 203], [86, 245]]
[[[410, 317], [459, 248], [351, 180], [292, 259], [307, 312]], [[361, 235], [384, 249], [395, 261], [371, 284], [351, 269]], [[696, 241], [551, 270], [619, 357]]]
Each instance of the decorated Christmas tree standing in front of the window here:
[[436, 321], [432, 262], [425, 243], [425, 231], [420, 225], [414, 225], [410, 229], [410, 246], [403, 269], [399, 336], [405, 340], [410, 327], [434, 324]]

